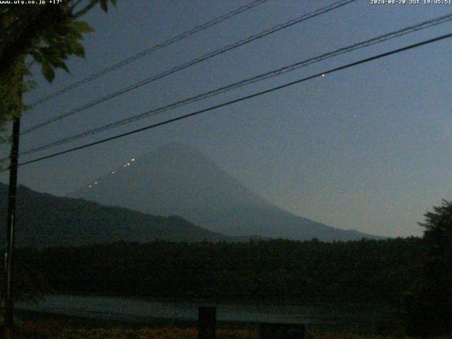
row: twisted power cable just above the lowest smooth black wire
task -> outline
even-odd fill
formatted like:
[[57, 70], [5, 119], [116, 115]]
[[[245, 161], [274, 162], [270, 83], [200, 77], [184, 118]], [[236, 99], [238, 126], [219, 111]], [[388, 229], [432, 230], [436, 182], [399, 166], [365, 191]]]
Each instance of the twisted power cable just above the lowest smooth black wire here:
[[337, 57], [340, 54], [345, 54], [345, 53], [348, 53], [348, 52], [352, 52], [352, 51], [354, 51], [356, 49], [369, 47], [369, 46], [371, 46], [373, 44], [378, 44], [378, 43], [381, 43], [381, 42], [385, 42], [385, 41], [391, 40], [391, 39], [393, 39], [395, 37], [401, 37], [401, 36], [403, 36], [405, 34], [408, 34], [408, 33], [411, 33], [411, 32], [417, 32], [419, 30], [424, 30], [424, 29], [430, 28], [430, 27], [432, 27], [434, 25], [439, 25], [441, 23], [446, 23], [446, 22], [451, 21], [451, 20], [452, 20], [452, 13], [450, 13], [450, 14], [448, 14], [446, 16], [441, 16], [439, 18], [434, 18], [432, 20], [424, 21], [423, 23], [419, 23], [417, 25], [411, 25], [411, 26], [408, 26], [407, 28], [396, 30], [395, 32], [387, 33], [385, 35], [380, 35], [378, 37], [374, 37], [372, 39], [365, 40], [364, 42], [359, 42], [357, 44], [352, 44], [352, 45], [350, 45], [348, 47], [343, 47], [343, 48], [340, 48], [340, 49], [336, 49], [333, 52], [328, 52], [328, 53], [325, 53], [325, 54], [321, 54], [318, 57], [313, 57], [313, 58], [310, 58], [310, 59], [307, 59], [307, 60], [304, 60], [304, 61], [299, 61], [299, 62], [297, 62], [295, 64], [291, 64], [290, 66], [285, 66], [285, 67], [282, 67], [280, 69], [276, 69], [276, 70], [273, 70], [273, 71], [262, 73], [262, 74], [260, 74], [258, 76], [254, 76], [252, 78], [247, 78], [246, 80], [239, 81], [237, 83], [232, 83], [230, 85], [226, 85], [226, 86], [223, 86], [221, 88], [217, 88], [215, 90], [210, 90], [210, 91], [208, 91], [206, 93], [202, 93], [202, 94], [196, 95], [194, 97], [189, 97], [187, 99], [180, 100], [178, 102], [174, 102], [172, 104], [169, 104], [169, 105], [166, 105], [166, 106], [163, 106], [163, 107], [159, 107], [157, 109], [151, 109], [150, 111], [146, 111], [146, 112], [143, 112], [141, 114], [137, 114], [137, 115], [135, 115], [133, 117], [129, 117], [129, 118], [126, 118], [126, 119], [121, 119], [119, 121], [114, 121], [114, 122], [112, 122], [110, 124], [105, 124], [103, 126], [95, 128], [95, 129], [91, 129], [89, 131], [85, 131], [83, 133], [76, 134], [75, 136], [69, 136], [69, 137], [63, 138], [63, 139], [61, 139], [59, 141], [54, 141], [54, 142], [48, 143], [46, 145], [41, 145], [41, 146], [38, 146], [38, 147], [35, 147], [35, 148], [31, 148], [29, 150], [23, 151], [22, 153], [20, 153], [20, 155], [36, 153], [36, 152], [39, 152], [41, 150], [46, 150], [47, 148], [52, 148], [52, 147], [57, 146], [57, 145], [63, 145], [65, 143], [69, 143], [70, 141], [75, 141], [75, 140], [78, 140], [80, 138], [85, 138], [87, 136], [91, 136], [91, 135], [94, 135], [96, 133], [100, 133], [102, 131], [107, 131], [108, 129], [112, 129], [112, 128], [117, 127], [117, 126], [121, 126], [121, 125], [124, 125], [124, 124], [129, 124], [129, 123], [131, 123], [133, 121], [138, 121], [140, 119], [144, 119], [145, 117], [151, 117], [151, 116], [154, 116], [156, 114], [160, 114], [162, 112], [167, 112], [170, 109], [174, 109], [174, 108], [177, 108], [177, 107], [182, 107], [182, 106], [188, 105], [188, 104], [190, 104], [192, 102], [197, 102], [199, 100], [204, 100], [204, 99], [206, 99], [208, 97], [213, 97], [214, 95], [219, 95], [220, 93], [225, 93], [228, 90], [232, 90], [232, 89], [235, 89], [235, 88], [240, 88], [240, 87], [242, 87], [244, 85], [249, 85], [251, 83], [256, 83], [258, 81], [263, 81], [263, 80], [266, 80], [268, 78], [272, 78], [272, 77], [275, 77], [275, 76], [280, 76], [283, 73], [288, 73], [290, 71], [295, 71], [296, 69], [302, 68], [304, 66], [308, 66], [310, 64], [315, 64], [315, 63], [317, 63], [319, 61], [323, 61], [323, 60], [329, 59], [331, 57]]

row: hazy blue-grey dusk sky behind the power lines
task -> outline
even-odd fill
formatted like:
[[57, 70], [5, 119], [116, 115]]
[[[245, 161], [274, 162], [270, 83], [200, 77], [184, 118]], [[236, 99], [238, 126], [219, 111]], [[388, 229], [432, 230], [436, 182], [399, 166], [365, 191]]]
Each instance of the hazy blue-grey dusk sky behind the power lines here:
[[[251, 1], [119, 0], [86, 16], [87, 59], [37, 89], [53, 93], [153, 44]], [[270, 0], [35, 108], [23, 129], [291, 18], [332, 4]], [[409, 2], [409, 0], [407, 0]], [[421, 1], [423, 2], [423, 0]], [[357, 0], [23, 136], [21, 150], [130, 117], [264, 71], [452, 12], [452, 5]], [[452, 32], [452, 23], [328, 59], [157, 117], [23, 157], [130, 131], [215, 103]], [[20, 168], [19, 181], [65, 194], [171, 141], [193, 145], [268, 201], [326, 225], [387, 236], [420, 235], [417, 222], [452, 199], [452, 40], [379, 59], [198, 117]], [[6, 150], [3, 151], [6, 154]], [[7, 175], [0, 179], [6, 182]], [[131, 178], [133, 180], [133, 178]]]

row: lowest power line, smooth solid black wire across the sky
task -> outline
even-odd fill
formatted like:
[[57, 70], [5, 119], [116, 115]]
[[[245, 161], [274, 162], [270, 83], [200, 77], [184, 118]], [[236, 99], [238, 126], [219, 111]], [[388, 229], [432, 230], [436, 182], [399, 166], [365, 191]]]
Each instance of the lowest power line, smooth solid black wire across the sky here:
[[[157, 126], [162, 126], [162, 125], [170, 124], [170, 123], [172, 123], [172, 122], [174, 122], [174, 121], [179, 121], [179, 120], [186, 119], [186, 118], [189, 118], [189, 117], [194, 117], [195, 115], [198, 115], [198, 114], [201, 114], [201, 113], [205, 113], [205, 112], [209, 112], [209, 111], [212, 111], [212, 110], [214, 110], [214, 109], [218, 109], [218, 108], [220, 108], [220, 107], [225, 107], [225, 106], [228, 106], [228, 105], [232, 105], [232, 104], [234, 104], [234, 103], [237, 103], [237, 102], [242, 102], [242, 101], [244, 101], [244, 100], [249, 100], [249, 99], [251, 99], [251, 98], [253, 98], [253, 97], [258, 97], [258, 96], [261, 96], [261, 95], [264, 95], [264, 94], [267, 94], [267, 93], [274, 92], [274, 91], [276, 91], [276, 90], [280, 90], [280, 89], [287, 88], [287, 87], [292, 86], [292, 85], [296, 85], [296, 84], [298, 84], [298, 83], [303, 83], [304, 81], [308, 81], [308, 80], [311, 80], [311, 79], [313, 79], [313, 78], [318, 78], [319, 76], [324, 76], [324, 75], [326, 75], [326, 74], [333, 73], [333, 72], [337, 72], [337, 71], [341, 71], [341, 70], [343, 70], [343, 69], [349, 69], [350, 67], [358, 66], [358, 65], [360, 65], [360, 64], [365, 64], [365, 63], [367, 63], [367, 62], [369, 62], [369, 61], [374, 61], [374, 60], [376, 60], [376, 59], [381, 59], [381, 58], [383, 58], [383, 57], [388, 57], [388, 56], [393, 55], [393, 54], [398, 54], [398, 53], [400, 53], [400, 52], [407, 51], [408, 49], [413, 49], [413, 48], [416, 48], [416, 47], [420, 47], [420, 46], [423, 46], [423, 45], [425, 45], [425, 44], [431, 44], [431, 43], [433, 43], [433, 42], [438, 42], [438, 41], [440, 41], [440, 40], [444, 40], [444, 39], [447, 39], [447, 38], [449, 38], [449, 37], [452, 37], [452, 33], [449, 33], [449, 34], [447, 34], [447, 35], [441, 35], [441, 36], [435, 37], [435, 38], [433, 38], [433, 39], [424, 40], [424, 41], [422, 41], [422, 42], [417, 42], [416, 44], [410, 44], [409, 46], [402, 47], [402, 48], [399, 48], [399, 49], [393, 49], [393, 50], [390, 51], [390, 52], [378, 54], [378, 55], [376, 55], [376, 56], [374, 56], [374, 57], [369, 57], [369, 58], [367, 58], [367, 59], [362, 59], [362, 60], [359, 60], [359, 61], [355, 61], [355, 62], [352, 62], [351, 64], [347, 64], [347, 65], [345, 65], [345, 66], [340, 66], [340, 67], [337, 67], [337, 68], [335, 68], [335, 69], [331, 69], [331, 70], [329, 70], [329, 71], [323, 71], [323, 72], [321, 72], [321, 73], [316, 73], [316, 74], [314, 74], [314, 76], [308, 76], [308, 77], [306, 77], [306, 78], [302, 78], [302, 79], [299, 79], [299, 80], [297, 80], [297, 81], [292, 81], [292, 82], [290, 82], [290, 83], [285, 83], [284, 85], [280, 85], [280, 86], [277, 86], [277, 87], [273, 87], [273, 88], [270, 88], [270, 89], [268, 89], [268, 90], [263, 90], [263, 91], [258, 92], [258, 93], [254, 93], [254, 94], [251, 94], [251, 95], [246, 95], [246, 96], [244, 96], [244, 97], [239, 97], [238, 99], [231, 100], [231, 101], [228, 101], [228, 102], [223, 102], [223, 103], [221, 103], [221, 104], [219, 104], [219, 105], [215, 105], [215, 106], [212, 106], [212, 107], [208, 107], [208, 108], [206, 108], [206, 109], [201, 109], [201, 110], [198, 110], [198, 111], [196, 111], [196, 112], [191, 112], [191, 113], [189, 113], [189, 114], [182, 115], [181, 117], [177, 117], [177, 118], [173, 118], [173, 119], [168, 119], [168, 120], [159, 122], [159, 123], [157, 123], [157, 124], [148, 125], [148, 126], [145, 126], [145, 127], [140, 128], [140, 129], [135, 129], [135, 130], [133, 130], [133, 131], [129, 131], [129, 132], [126, 132], [126, 133], [121, 133], [121, 134], [118, 134], [118, 135], [116, 135], [116, 136], [112, 136], [112, 137], [109, 137], [109, 138], [104, 138], [104, 139], [102, 139], [102, 140], [100, 140], [100, 141], [95, 141], [95, 142], [93, 142], [93, 143], [87, 143], [87, 144], [85, 144], [85, 145], [81, 145], [81, 146], [74, 147], [74, 148], [69, 148], [68, 150], [63, 150], [63, 151], [58, 152], [58, 153], [53, 153], [53, 154], [51, 154], [51, 155], [46, 155], [46, 156], [44, 156], [44, 157], [38, 157], [37, 159], [29, 160], [29, 161], [26, 161], [26, 162], [21, 162], [20, 164], [18, 164], [18, 166], [28, 165], [28, 164], [31, 164], [31, 163], [33, 163], [33, 162], [38, 162], [38, 161], [46, 160], [46, 159], [49, 159], [49, 158], [51, 158], [51, 157], [57, 157], [58, 155], [64, 155], [64, 154], [66, 154], [66, 153], [71, 153], [71, 152], [73, 152], [73, 151], [81, 150], [81, 149], [83, 149], [83, 148], [88, 148], [88, 147], [90, 147], [90, 146], [98, 145], [98, 144], [100, 144], [100, 143], [106, 143], [107, 141], [112, 141], [112, 140], [117, 139], [117, 138], [122, 138], [122, 137], [124, 137], [124, 136], [129, 136], [129, 135], [132, 135], [132, 134], [141, 132], [141, 131], [146, 131], [146, 130], [148, 130], [148, 129], [154, 129], [154, 128], [157, 127]], [[7, 168], [7, 169], [8, 169], [8, 168]], [[1, 172], [6, 171], [7, 169], [4, 169], [4, 170], [1, 171]]]

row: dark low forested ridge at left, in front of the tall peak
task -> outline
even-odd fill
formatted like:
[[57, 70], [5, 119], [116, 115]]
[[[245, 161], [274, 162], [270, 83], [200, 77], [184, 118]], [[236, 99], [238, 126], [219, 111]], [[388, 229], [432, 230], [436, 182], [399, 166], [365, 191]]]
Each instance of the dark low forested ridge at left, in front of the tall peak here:
[[[0, 222], [6, 225], [8, 186], [0, 184]], [[105, 242], [232, 242], [241, 239], [210, 232], [177, 216], [155, 216], [126, 208], [102, 206], [18, 187], [18, 246], [77, 246]], [[5, 226], [4, 226], [5, 227]], [[2, 227], [0, 240], [5, 241]], [[244, 239], [247, 240], [247, 239]]]

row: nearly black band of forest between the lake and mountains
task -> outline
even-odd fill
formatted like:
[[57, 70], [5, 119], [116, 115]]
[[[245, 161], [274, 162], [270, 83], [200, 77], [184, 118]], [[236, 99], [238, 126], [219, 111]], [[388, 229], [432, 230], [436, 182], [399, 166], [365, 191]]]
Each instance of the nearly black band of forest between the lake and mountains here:
[[[114, 243], [21, 250], [49, 292], [149, 299], [393, 302], [417, 280], [419, 238], [324, 243]], [[19, 264], [20, 266], [20, 264]]]

